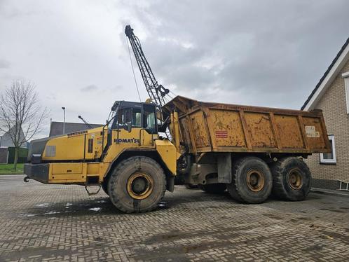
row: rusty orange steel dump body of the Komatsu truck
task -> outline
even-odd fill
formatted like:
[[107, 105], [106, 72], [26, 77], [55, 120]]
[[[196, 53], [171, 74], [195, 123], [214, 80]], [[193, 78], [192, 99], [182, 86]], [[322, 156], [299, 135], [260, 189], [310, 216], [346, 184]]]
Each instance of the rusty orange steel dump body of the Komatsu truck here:
[[163, 107], [179, 113], [181, 142], [190, 153], [330, 151], [322, 111], [199, 102], [177, 96]]

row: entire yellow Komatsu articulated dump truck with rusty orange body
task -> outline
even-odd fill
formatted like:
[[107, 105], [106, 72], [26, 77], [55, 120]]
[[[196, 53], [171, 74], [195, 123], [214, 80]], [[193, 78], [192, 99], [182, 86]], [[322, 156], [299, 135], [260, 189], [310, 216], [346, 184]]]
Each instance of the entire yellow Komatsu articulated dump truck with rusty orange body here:
[[[162, 115], [162, 116], [161, 116]], [[160, 121], [159, 118], [165, 119]], [[159, 132], [170, 131], [168, 137]], [[25, 181], [100, 186], [123, 212], [158, 207], [175, 177], [238, 202], [304, 200], [303, 158], [330, 151], [322, 111], [198, 102], [115, 102], [107, 124], [34, 140]], [[89, 191], [88, 191], [89, 192]]]

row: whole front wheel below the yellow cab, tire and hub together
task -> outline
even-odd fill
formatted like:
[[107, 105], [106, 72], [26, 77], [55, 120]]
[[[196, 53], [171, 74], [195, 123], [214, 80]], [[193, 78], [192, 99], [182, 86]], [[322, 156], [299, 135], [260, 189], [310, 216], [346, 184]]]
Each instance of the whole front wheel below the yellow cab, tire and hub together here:
[[156, 209], [165, 190], [163, 169], [155, 160], [145, 156], [123, 160], [115, 168], [108, 182], [111, 202], [126, 213]]

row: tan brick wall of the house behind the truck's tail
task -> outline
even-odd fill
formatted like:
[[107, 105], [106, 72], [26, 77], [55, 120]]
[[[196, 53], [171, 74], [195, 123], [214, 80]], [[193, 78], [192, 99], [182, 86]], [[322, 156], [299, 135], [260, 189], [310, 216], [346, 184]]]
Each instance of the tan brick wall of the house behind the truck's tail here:
[[[313, 186], [334, 189], [334, 181], [349, 181], [349, 115], [345, 102], [344, 78], [341, 76], [348, 71], [349, 61], [315, 106], [317, 109], [322, 109], [324, 113], [328, 134], [334, 135], [336, 164], [320, 164], [319, 154], [310, 156], [306, 163], [315, 180]], [[328, 183], [325, 182], [326, 180], [329, 180]]]

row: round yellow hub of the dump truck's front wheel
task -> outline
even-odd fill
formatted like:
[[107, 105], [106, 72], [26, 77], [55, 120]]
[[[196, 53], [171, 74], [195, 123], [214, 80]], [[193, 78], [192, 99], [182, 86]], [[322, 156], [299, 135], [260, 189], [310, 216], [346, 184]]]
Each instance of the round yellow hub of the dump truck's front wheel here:
[[128, 179], [127, 191], [131, 198], [145, 199], [153, 191], [153, 178], [144, 172], [132, 174]]

